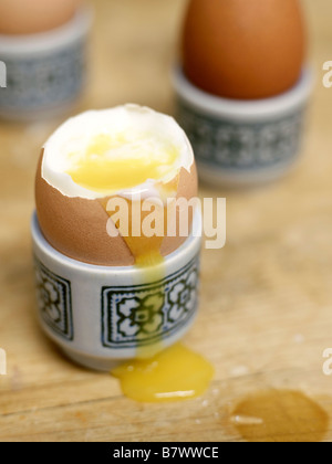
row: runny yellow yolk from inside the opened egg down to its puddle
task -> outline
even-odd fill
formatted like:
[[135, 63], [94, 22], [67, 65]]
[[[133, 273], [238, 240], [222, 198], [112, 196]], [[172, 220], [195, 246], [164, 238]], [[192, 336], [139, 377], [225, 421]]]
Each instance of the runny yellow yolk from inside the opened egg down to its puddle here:
[[[110, 217], [114, 214], [114, 211], [107, 210], [110, 196], [139, 186], [148, 179], [156, 180], [155, 188], [162, 201], [166, 203], [167, 198], [176, 196], [178, 170], [168, 183], [162, 183], [159, 179], [174, 172], [178, 152], [172, 146], [159, 146], [156, 156], [156, 147], [147, 145], [151, 149], [146, 150], [145, 141], [142, 143], [139, 139], [128, 141], [124, 135], [115, 138], [97, 136], [85, 154], [70, 156], [72, 168], [68, 173], [81, 187], [105, 193], [100, 203]], [[135, 284], [163, 282], [166, 266], [160, 247], [167, 231], [167, 209], [162, 205], [156, 207], [164, 210], [164, 236], [147, 238], [142, 231], [139, 236], [134, 236], [131, 233], [134, 201], [126, 200], [126, 202], [129, 233], [123, 233], [121, 221], [115, 225], [139, 270]], [[164, 304], [164, 292], [163, 288], [157, 288], [155, 294], [152, 293], [148, 302], [151, 314], [159, 310]], [[145, 327], [148, 328], [148, 320]], [[139, 345], [139, 339], [145, 337], [144, 333], [137, 335], [136, 359], [112, 371], [112, 375], [120, 379], [125, 396], [143, 402], [169, 402], [199, 397], [205, 392], [214, 376], [214, 368], [208, 361], [180, 344], [165, 349], [162, 336], [151, 345], [144, 342]]]

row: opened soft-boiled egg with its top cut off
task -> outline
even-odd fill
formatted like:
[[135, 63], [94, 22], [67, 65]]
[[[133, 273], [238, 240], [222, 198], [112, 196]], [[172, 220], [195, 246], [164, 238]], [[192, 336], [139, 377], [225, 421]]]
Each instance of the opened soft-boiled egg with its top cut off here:
[[[38, 218], [50, 244], [104, 266], [153, 262], [187, 239], [166, 231], [110, 236], [110, 199], [122, 198], [132, 210], [136, 201], [157, 198], [166, 217], [167, 199], [195, 197], [197, 172], [185, 133], [172, 117], [136, 105], [86, 112], [64, 123], [43, 147], [35, 182]], [[188, 221], [191, 225], [191, 210]]]

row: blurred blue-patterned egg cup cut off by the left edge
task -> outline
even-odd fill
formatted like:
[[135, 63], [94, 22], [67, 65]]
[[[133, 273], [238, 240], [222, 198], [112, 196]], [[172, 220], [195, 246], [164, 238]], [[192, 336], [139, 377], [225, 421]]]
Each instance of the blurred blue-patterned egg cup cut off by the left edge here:
[[33, 120], [70, 109], [86, 81], [86, 42], [92, 10], [81, 8], [61, 28], [30, 35], [0, 35], [7, 87], [0, 117]]

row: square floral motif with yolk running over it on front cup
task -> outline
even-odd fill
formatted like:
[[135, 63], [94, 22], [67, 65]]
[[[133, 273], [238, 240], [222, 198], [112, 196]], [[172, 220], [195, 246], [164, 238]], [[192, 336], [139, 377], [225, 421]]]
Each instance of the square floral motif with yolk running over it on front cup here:
[[121, 349], [170, 337], [187, 325], [198, 307], [199, 259], [165, 281], [102, 291], [102, 341]]

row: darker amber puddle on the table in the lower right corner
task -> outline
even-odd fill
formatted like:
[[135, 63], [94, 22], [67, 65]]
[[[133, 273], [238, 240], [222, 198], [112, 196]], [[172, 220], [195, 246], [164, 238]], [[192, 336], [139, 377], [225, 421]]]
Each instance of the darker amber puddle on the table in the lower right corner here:
[[301, 392], [267, 390], [249, 396], [232, 411], [231, 421], [248, 442], [321, 442], [328, 413]]

